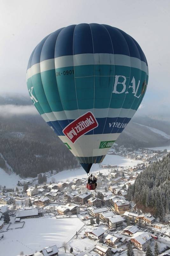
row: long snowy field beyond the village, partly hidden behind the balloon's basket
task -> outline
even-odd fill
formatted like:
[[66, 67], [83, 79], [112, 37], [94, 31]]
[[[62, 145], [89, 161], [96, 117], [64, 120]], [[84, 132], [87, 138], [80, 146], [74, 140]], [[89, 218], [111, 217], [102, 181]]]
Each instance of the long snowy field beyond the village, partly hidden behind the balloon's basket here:
[[[117, 156], [117, 155], [106, 155], [102, 164], [116, 164], [118, 166], [135, 166], [139, 163], [143, 163], [140, 160], [133, 160], [133, 159], [129, 159], [123, 156]], [[97, 172], [99, 171], [106, 173], [108, 172], [108, 170], [106, 169], [102, 169], [99, 167], [99, 164], [93, 164], [92, 168], [91, 168], [91, 172]], [[57, 181], [66, 181], [66, 180], [73, 180], [75, 177], [76, 178], [87, 178], [87, 174], [84, 171], [84, 169], [82, 167], [77, 168], [77, 169], [72, 169], [72, 170], [67, 170], [67, 171], [62, 171], [59, 172], [55, 175], [52, 176], [53, 178], [55, 178], [56, 182]], [[50, 182], [51, 178], [48, 178], [47, 181]]]

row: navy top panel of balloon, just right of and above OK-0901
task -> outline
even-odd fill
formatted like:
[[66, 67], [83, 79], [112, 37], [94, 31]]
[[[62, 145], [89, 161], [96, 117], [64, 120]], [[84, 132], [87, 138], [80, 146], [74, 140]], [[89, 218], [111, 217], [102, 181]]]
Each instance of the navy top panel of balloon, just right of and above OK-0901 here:
[[89, 24], [82, 23], [75, 26], [73, 53], [93, 53], [93, 40]]

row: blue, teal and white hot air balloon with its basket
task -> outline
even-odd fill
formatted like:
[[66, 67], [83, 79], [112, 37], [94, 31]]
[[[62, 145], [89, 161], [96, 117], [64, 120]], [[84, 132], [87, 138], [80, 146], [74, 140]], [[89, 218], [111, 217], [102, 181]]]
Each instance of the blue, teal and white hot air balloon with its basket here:
[[[46, 36], [30, 56], [26, 77], [35, 108], [89, 173], [140, 106], [148, 65], [124, 31], [83, 23]], [[89, 179], [87, 187], [96, 188]]]

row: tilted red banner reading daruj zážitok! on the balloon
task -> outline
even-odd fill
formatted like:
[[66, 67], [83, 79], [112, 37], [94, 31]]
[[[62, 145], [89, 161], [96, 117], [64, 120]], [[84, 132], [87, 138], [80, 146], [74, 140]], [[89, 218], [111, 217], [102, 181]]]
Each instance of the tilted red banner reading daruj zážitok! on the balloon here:
[[98, 123], [95, 116], [91, 112], [87, 112], [68, 124], [63, 129], [63, 133], [74, 143], [83, 134], [93, 130], [97, 126]]

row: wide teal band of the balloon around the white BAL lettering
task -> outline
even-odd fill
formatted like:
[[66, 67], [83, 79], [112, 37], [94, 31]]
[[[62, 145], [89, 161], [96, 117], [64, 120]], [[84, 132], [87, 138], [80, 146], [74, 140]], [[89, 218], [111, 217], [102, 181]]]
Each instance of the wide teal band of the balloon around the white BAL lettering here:
[[[66, 71], [70, 71], [71, 74], [67, 75], [65, 73]], [[140, 98], [134, 97], [132, 88], [128, 89], [129, 93], [125, 92], [127, 91], [128, 84], [129, 86], [132, 86], [131, 80], [133, 76], [135, 78], [136, 88], [138, 80], [140, 80], [137, 96], [140, 95], [142, 91], [142, 84], [144, 80], [148, 80], [146, 72], [141, 71], [138, 68], [114, 65], [86, 65], [57, 68], [55, 69], [55, 73], [58, 74], [57, 77], [54, 75], [54, 69], [32, 76], [36, 96], [45, 113], [50, 113], [52, 111], [58, 112], [63, 109], [76, 110], [77, 103], [79, 109], [110, 107], [131, 108], [137, 110], [144, 95], [141, 95]], [[115, 84], [114, 75], [126, 77], [126, 90], [124, 93], [112, 93], [113, 85]], [[119, 77], [118, 81], [123, 82], [123, 80], [123, 77]], [[30, 79], [28, 79], [28, 83], [29, 81]], [[118, 84], [117, 91], [121, 92], [122, 89], [123, 85]]]

